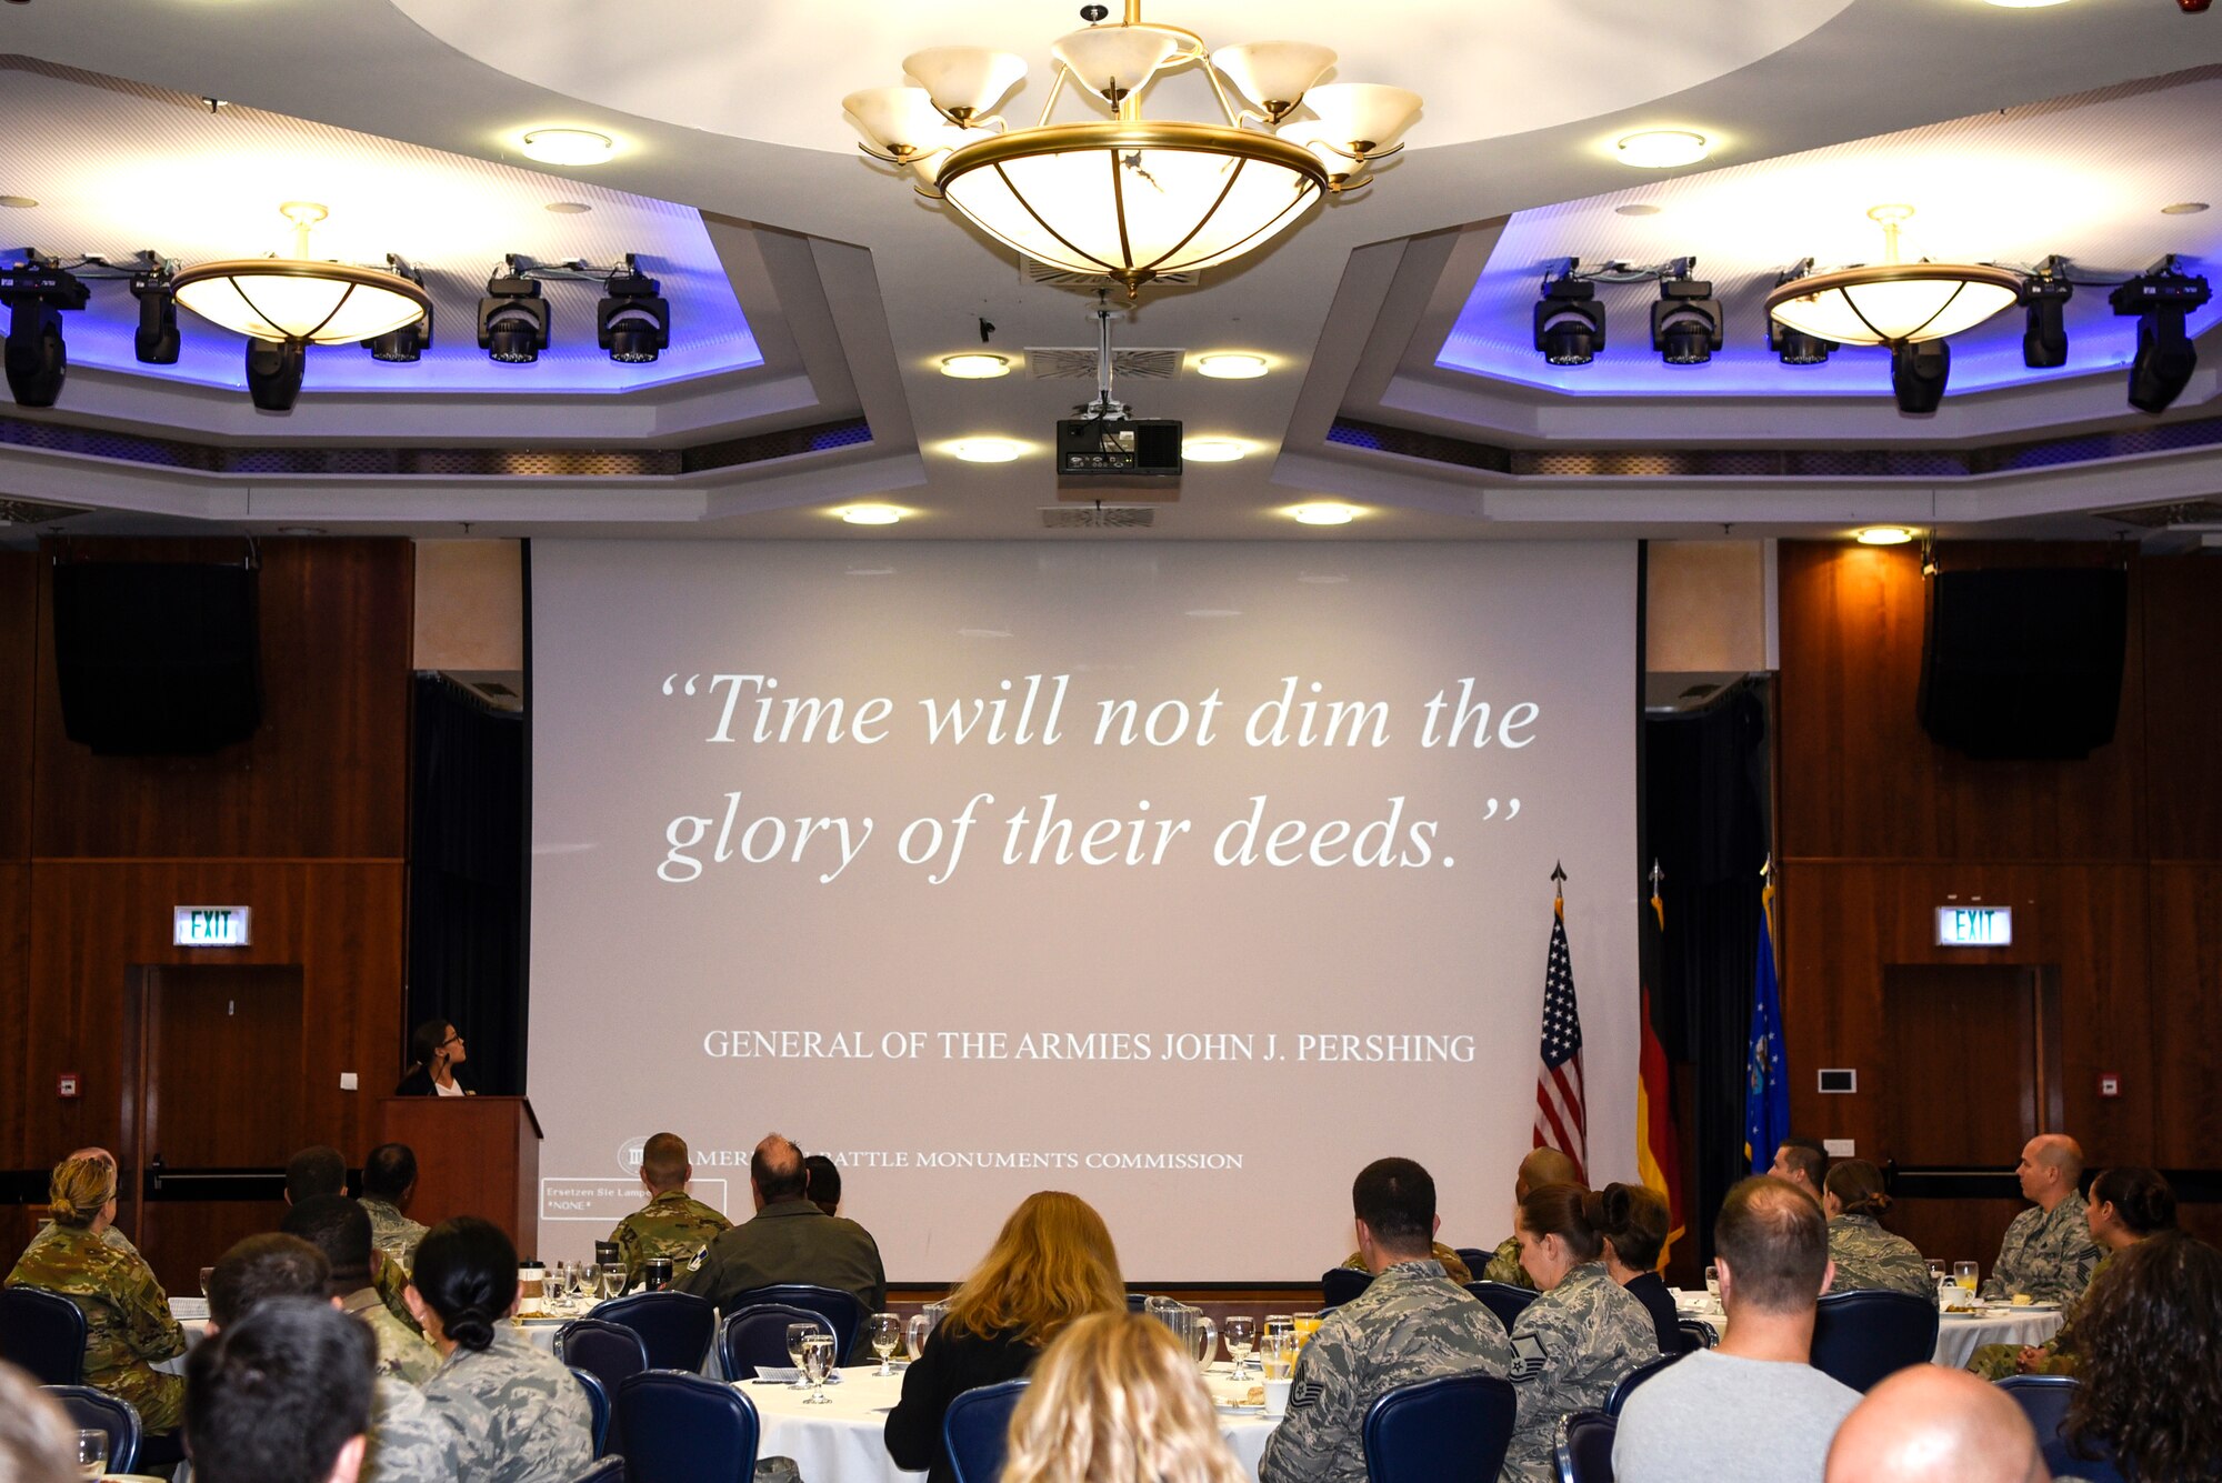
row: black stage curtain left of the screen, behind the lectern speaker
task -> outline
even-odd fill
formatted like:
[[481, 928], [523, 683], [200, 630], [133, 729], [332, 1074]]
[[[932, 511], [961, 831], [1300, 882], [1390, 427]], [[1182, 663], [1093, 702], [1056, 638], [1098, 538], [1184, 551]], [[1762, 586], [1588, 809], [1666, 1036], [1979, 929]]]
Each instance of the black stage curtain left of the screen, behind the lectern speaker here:
[[411, 726], [409, 1026], [453, 1021], [469, 1048], [456, 1077], [473, 1092], [516, 1097], [524, 1092], [524, 717], [418, 675]]

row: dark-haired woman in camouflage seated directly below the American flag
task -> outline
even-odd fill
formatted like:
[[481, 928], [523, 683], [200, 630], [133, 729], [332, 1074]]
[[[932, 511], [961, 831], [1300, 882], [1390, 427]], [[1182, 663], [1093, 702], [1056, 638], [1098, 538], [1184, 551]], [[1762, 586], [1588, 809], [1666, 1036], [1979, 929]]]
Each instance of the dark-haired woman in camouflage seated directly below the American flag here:
[[1604, 1410], [1620, 1376], [1660, 1356], [1642, 1299], [1598, 1265], [1604, 1241], [1591, 1199], [1580, 1186], [1547, 1183], [1520, 1201], [1520, 1265], [1542, 1292], [1513, 1319], [1507, 1379], [1520, 1394], [1520, 1416], [1504, 1483], [1551, 1483], [1560, 1419]]

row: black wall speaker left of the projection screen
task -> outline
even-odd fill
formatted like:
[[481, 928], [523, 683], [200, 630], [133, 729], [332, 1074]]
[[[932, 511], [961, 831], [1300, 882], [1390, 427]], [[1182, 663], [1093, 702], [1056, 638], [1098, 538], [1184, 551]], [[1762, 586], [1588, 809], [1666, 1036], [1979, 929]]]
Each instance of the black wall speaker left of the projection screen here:
[[262, 724], [256, 568], [62, 562], [53, 673], [62, 728], [109, 757], [189, 757]]

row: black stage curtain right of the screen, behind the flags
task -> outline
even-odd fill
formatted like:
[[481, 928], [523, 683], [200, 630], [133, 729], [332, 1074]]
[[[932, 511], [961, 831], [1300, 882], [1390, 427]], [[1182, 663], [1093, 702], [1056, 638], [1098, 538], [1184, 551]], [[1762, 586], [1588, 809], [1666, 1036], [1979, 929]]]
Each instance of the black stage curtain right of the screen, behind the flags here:
[[1644, 870], [1658, 859], [1666, 901], [1651, 1019], [1678, 1081], [1693, 1090], [1682, 1177], [1706, 1257], [1720, 1201], [1749, 1172], [1744, 1035], [1771, 837], [1766, 684], [1746, 679], [1698, 713], [1644, 717]]

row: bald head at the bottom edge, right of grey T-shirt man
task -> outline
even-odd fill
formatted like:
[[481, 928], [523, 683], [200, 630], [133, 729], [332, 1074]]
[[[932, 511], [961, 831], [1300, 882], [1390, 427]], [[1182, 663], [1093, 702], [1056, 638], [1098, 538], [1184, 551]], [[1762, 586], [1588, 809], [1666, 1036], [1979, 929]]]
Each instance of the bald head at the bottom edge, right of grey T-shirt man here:
[[1826, 1483], [2051, 1483], [2038, 1434], [2004, 1390], [1913, 1365], [1866, 1392], [1829, 1447]]

